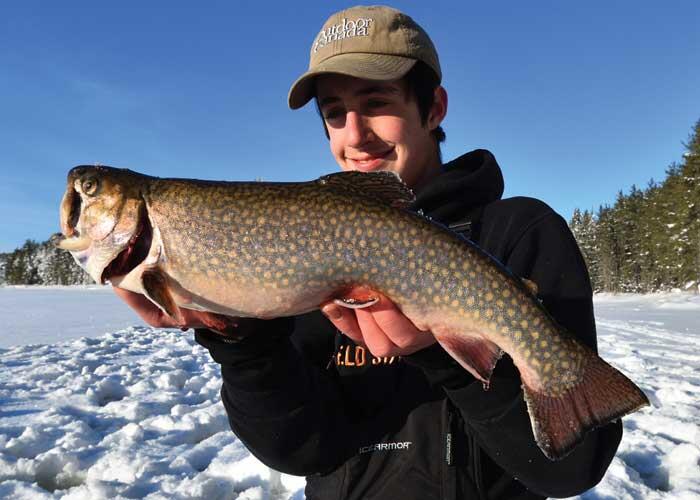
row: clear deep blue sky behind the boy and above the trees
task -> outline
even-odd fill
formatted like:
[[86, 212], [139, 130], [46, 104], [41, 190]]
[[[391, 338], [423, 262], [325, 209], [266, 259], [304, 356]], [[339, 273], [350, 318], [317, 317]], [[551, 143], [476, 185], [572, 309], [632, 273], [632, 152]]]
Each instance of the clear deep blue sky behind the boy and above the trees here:
[[[308, 180], [336, 170], [286, 96], [351, 3], [3, 2], [0, 251], [58, 230], [66, 172]], [[567, 219], [661, 179], [700, 119], [700, 2], [392, 2], [431, 35], [446, 160], [490, 149], [506, 196]]]

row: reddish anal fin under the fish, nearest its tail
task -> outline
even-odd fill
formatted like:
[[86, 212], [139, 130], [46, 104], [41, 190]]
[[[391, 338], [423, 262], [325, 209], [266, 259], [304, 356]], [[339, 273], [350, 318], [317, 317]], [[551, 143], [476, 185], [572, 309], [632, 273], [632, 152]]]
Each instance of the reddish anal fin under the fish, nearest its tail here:
[[503, 351], [484, 338], [433, 332], [440, 345], [488, 389], [491, 374]]

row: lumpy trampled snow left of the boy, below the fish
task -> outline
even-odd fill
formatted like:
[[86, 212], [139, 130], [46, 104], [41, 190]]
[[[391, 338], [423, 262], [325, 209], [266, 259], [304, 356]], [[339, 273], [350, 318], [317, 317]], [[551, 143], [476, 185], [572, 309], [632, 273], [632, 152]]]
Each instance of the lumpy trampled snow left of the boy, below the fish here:
[[303, 498], [303, 478], [271, 487], [231, 432], [220, 386], [191, 332], [0, 350], [0, 497]]

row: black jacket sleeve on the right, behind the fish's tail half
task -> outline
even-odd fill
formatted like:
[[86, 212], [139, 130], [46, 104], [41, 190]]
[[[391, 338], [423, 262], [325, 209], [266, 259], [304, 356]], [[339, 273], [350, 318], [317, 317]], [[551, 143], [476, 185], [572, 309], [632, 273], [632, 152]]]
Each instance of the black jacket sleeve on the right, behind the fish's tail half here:
[[[566, 222], [549, 211], [524, 228], [509, 249], [505, 264], [538, 285], [544, 306], [559, 323], [596, 348], [592, 291], [586, 266]], [[528, 489], [545, 496], [581, 493], [597, 484], [615, 455], [622, 436], [619, 421], [589, 432], [559, 461], [537, 447], [512, 360], [496, 365], [490, 388], [465, 373], [439, 346], [407, 357], [441, 384], [459, 409], [468, 432], [501, 468]]]

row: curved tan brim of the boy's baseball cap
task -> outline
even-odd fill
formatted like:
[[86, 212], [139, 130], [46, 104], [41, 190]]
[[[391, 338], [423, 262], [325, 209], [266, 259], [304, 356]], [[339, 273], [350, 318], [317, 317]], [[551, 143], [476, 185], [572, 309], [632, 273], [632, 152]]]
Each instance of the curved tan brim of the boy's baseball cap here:
[[289, 107], [299, 109], [314, 97], [314, 80], [319, 75], [335, 73], [366, 80], [397, 80], [415, 64], [416, 59], [387, 54], [338, 54], [307, 71], [292, 84], [288, 96]]

